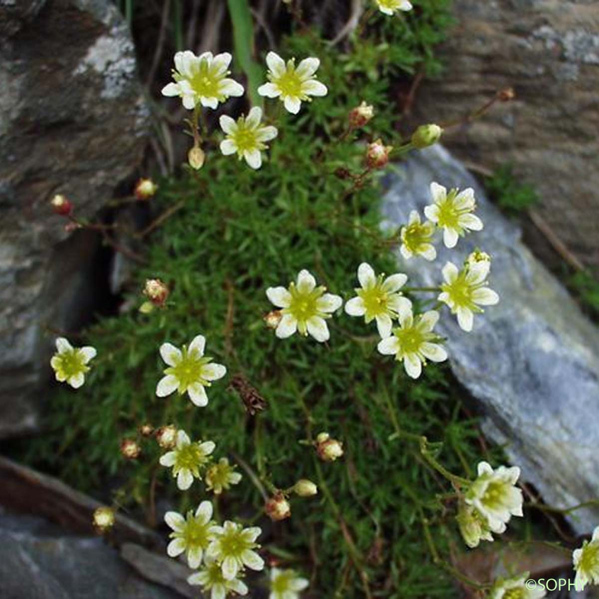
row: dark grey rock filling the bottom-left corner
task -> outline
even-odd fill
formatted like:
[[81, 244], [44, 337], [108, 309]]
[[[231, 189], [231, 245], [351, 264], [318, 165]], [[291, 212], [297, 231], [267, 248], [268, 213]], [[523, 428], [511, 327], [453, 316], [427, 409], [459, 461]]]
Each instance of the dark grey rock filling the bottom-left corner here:
[[65, 534], [41, 518], [0, 513], [2, 599], [180, 599], [140, 578], [98, 537]]

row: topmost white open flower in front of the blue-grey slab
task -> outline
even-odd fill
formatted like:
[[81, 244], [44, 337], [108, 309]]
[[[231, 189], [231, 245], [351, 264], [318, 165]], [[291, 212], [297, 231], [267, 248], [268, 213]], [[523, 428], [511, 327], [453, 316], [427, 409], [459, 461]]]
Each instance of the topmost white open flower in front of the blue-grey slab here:
[[459, 235], [465, 231], [480, 231], [482, 220], [472, 214], [476, 208], [474, 190], [471, 187], [459, 192], [457, 189], [447, 193], [445, 187], [431, 183], [431, 195], [434, 204], [424, 208], [426, 218], [443, 229], [443, 242], [447, 247], [455, 247]]

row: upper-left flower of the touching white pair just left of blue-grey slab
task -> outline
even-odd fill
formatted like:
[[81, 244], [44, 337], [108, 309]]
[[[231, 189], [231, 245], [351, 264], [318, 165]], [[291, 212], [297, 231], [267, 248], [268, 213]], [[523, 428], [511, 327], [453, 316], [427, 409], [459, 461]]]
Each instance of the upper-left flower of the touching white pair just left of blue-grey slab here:
[[358, 295], [345, 304], [345, 311], [350, 316], [364, 316], [367, 324], [376, 319], [379, 335], [389, 337], [392, 319], [412, 311], [412, 302], [399, 292], [407, 280], [402, 273], [386, 279], [383, 274], [377, 277], [370, 264], [362, 262], [358, 267], [358, 281], [362, 287], [356, 288]]

